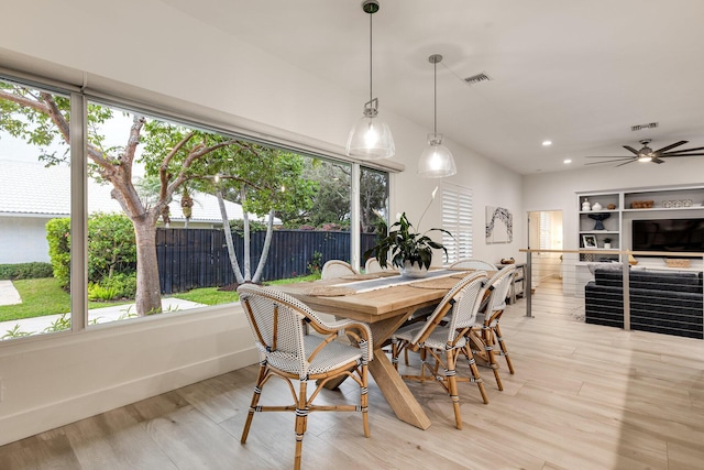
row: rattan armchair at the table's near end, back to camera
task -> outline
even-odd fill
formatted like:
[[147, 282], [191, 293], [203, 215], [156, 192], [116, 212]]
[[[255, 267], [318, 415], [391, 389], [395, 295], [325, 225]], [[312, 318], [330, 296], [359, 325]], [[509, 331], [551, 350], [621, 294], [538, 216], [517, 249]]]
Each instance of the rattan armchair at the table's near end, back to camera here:
[[[369, 326], [353, 320], [324, 324], [304, 303], [273, 287], [243, 284], [238, 293], [261, 359], [241, 442], [246, 441], [255, 412], [296, 413], [296, 469], [300, 468], [302, 439], [310, 412], [361, 412], [364, 436], [369, 437], [367, 364], [372, 360], [373, 349]], [[309, 325], [316, 334], [307, 335], [304, 324]], [[336, 341], [339, 337], [349, 340]], [[342, 375], [360, 385], [360, 404], [315, 405], [314, 400], [322, 386]], [[262, 390], [274, 376], [288, 383], [293, 404], [260, 405]], [[294, 381], [298, 381], [298, 392]], [[317, 382], [310, 395], [309, 382]]]

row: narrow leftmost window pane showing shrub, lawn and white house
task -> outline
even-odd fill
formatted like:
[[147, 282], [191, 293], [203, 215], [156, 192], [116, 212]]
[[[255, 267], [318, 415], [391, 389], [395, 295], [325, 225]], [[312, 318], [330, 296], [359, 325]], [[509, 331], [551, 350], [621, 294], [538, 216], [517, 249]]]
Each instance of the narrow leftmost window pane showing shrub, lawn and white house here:
[[69, 111], [66, 95], [0, 80], [2, 339], [72, 325]]

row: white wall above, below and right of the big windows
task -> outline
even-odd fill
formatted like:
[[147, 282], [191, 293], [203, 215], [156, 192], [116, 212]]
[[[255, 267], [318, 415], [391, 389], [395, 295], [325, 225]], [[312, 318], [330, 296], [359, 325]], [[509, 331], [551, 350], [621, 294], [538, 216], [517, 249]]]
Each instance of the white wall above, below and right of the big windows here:
[[[51, 69], [76, 85], [85, 70], [89, 87], [120, 89], [123, 83], [124, 96], [274, 135], [299, 135], [340, 152], [360, 114], [359, 97], [205, 28], [166, 2], [25, 0], [21, 10], [32, 21], [3, 23], [0, 65]], [[52, 35], [56, 31], [59, 36]], [[427, 129], [389, 110], [384, 117], [395, 134], [396, 161], [408, 168], [393, 176], [392, 214], [406, 210], [417, 220], [438, 183], [415, 174]], [[475, 255], [518, 259], [519, 237], [509, 245], [487, 247], [483, 225], [485, 206], [502, 206], [514, 211], [515, 232], [522, 232], [520, 176], [453, 142], [447, 145], [461, 175], [451, 181], [474, 193]], [[435, 204], [421, 228], [440, 226]], [[245, 320], [228, 306], [3, 341], [0, 445], [255, 361]]]

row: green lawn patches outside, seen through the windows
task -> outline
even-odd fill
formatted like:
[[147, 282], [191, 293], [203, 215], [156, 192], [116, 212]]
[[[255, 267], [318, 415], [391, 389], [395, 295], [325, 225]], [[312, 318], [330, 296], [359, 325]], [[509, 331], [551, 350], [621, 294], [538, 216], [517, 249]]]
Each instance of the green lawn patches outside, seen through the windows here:
[[[316, 281], [319, 278], [320, 274], [310, 274], [288, 280], [270, 281], [265, 284], [288, 284], [294, 282]], [[58, 281], [54, 277], [20, 280], [13, 281], [12, 284], [20, 293], [22, 303], [18, 305], [0, 306], [0, 321], [43, 317], [46, 315], [70, 311], [70, 295], [58, 285]], [[172, 297], [197, 302], [204, 305], [228, 304], [240, 299], [237, 292], [219, 291], [218, 287], [195, 288], [189, 292], [173, 294]], [[89, 302], [88, 308], [100, 308], [130, 303], [132, 302]]]

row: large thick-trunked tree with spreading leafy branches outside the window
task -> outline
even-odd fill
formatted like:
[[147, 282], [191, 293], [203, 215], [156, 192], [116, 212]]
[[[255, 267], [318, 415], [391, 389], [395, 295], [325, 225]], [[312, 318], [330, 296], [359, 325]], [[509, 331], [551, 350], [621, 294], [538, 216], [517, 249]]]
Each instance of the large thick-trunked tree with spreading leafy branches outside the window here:
[[[68, 98], [21, 85], [0, 81], [0, 129], [37, 146], [55, 141], [69, 144]], [[134, 226], [138, 275], [136, 311], [139, 315], [158, 313], [161, 288], [156, 260], [156, 221], [165, 214], [174, 193], [187, 182], [202, 176], [200, 166], [194, 164], [207, 155], [228, 146], [246, 146], [245, 143], [162, 121], [147, 120], [134, 114], [123, 146], [105, 147], [105, 135], [97, 130], [112, 118], [110, 108], [88, 105], [87, 157], [88, 171], [100, 182], [110, 183], [112, 197], [119, 201]], [[146, 205], [132, 178], [138, 159], [138, 145], [146, 142], [142, 156], [147, 172], [158, 176], [158, 195]], [[42, 153], [40, 160], [47, 165], [68, 162], [68, 152]]]

